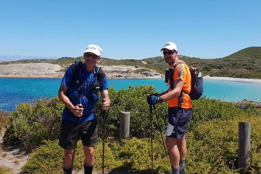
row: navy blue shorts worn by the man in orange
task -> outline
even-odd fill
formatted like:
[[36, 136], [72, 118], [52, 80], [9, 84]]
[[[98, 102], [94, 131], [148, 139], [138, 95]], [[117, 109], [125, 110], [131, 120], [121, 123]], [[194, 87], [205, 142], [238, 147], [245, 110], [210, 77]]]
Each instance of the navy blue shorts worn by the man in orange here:
[[174, 126], [173, 130], [171, 129], [171, 135], [169, 135], [168, 137], [183, 139], [185, 132], [188, 128], [188, 124], [190, 122], [191, 108], [184, 109], [181, 107], [169, 107], [168, 113], [169, 124]]

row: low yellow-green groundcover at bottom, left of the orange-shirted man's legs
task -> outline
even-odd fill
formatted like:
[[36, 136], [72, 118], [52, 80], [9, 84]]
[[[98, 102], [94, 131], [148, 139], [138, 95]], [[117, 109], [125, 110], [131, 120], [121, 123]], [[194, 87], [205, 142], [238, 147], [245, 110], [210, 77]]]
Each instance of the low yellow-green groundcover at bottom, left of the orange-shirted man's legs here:
[[[170, 171], [169, 159], [162, 151], [161, 139], [154, 139], [154, 172]], [[125, 170], [130, 173], [151, 172], [151, 144], [150, 139], [131, 138], [122, 140], [121, 143], [107, 138], [104, 148], [104, 171]], [[102, 170], [102, 140], [99, 140], [94, 150], [94, 171]], [[30, 153], [25, 166], [22, 167], [24, 174], [58, 174], [62, 172], [63, 149], [57, 141], [44, 141], [43, 145]], [[83, 170], [84, 153], [81, 141], [78, 142], [74, 170]]]

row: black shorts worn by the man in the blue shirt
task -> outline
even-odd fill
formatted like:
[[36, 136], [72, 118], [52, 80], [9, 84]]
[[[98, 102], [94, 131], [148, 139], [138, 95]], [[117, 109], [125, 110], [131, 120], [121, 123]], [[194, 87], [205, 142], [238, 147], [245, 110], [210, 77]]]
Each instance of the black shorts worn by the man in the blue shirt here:
[[[59, 146], [63, 149], [74, 149], [76, 129], [78, 122], [62, 120]], [[77, 133], [77, 141], [81, 137], [82, 144], [92, 147], [98, 144], [97, 119], [80, 123]]]

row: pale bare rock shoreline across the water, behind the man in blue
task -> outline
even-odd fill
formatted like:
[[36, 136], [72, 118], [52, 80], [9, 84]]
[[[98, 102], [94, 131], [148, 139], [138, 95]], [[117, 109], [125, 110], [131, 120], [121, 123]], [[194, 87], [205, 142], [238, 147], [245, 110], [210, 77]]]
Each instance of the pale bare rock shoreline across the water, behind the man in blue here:
[[[100, 66], [100, 65], [98, 65]], [[137, 67], [126, 65], [100, 66], [107, 75], [108, 79], [114, 78], [160, 78], [163, 74], [155, 71], [138, 72]], [[25, 63], [25, 64], [7, 64], [0, 65], [0, 77], [63, 77], [64, 71], [61, 71], [60, 65], [49, 63]], [[131, 72], [135, 71], [135, 72]], [[137, 72], [137, 73], [136, 73]]]

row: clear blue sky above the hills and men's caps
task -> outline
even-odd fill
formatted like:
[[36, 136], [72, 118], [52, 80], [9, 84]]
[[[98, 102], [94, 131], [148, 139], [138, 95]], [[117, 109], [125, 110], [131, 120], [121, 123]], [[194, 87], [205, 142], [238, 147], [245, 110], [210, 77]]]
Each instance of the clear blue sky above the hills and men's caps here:
[[172, 41], [180, 55], [220, 58], [261, 46], [260, 7], [260, 0], [4, 0], [0, 55], [79, 57], [97, 44], [102, 57], [143, 59], [162, 56]]

